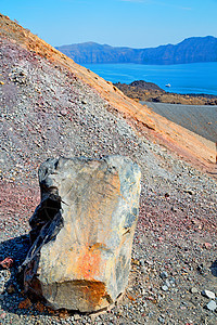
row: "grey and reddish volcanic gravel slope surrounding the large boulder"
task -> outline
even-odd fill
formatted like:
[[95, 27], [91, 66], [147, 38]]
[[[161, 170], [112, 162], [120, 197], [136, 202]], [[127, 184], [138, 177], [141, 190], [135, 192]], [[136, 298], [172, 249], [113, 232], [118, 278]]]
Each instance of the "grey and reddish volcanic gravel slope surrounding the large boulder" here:
[[[1, 40], [1, 324], [216, 324], [216, 200], [210, 177], [139, 136], [113, 107], [64, 67]], [[52, 312], [17, 281], [28, 219], [39, 203], [37, 170], [51, 156], [129, 156], [142, 171], [129, 285], [100, 315]], [[217, 302], [214, 299], [214, 303]]]

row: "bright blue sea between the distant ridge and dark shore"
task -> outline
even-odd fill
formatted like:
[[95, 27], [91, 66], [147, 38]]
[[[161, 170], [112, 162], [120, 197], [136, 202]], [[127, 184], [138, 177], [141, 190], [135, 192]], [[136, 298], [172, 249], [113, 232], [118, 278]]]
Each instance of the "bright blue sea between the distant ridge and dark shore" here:
[[[135, 80], [154, 82], [169, 92], [217, 95], [217, 62], [177, 65], [85, 64], [87, 68], [112, 82]], [[166, 84], [170, 84], [170, 88]]]

